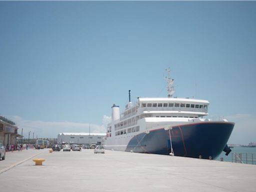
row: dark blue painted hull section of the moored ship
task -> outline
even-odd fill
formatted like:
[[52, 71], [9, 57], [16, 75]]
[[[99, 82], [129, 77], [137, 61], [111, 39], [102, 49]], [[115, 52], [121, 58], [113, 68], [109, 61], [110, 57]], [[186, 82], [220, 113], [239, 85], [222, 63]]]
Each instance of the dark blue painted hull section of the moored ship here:
[[173, 126], [170, 132], [154, 129], [131, 138], [125, 151], [169, 154], [171, 138], [175, 156], [214, 159], [224, 149], [233, 126], [231, 122], [199, 122]]

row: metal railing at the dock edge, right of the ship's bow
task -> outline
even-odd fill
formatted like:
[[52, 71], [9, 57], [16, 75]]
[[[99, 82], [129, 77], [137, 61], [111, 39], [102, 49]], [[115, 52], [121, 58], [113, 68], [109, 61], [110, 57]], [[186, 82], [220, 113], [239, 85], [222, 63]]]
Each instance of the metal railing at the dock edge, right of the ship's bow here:
[[232, 162], [256, 164], [256, 153], [232, 152]]

